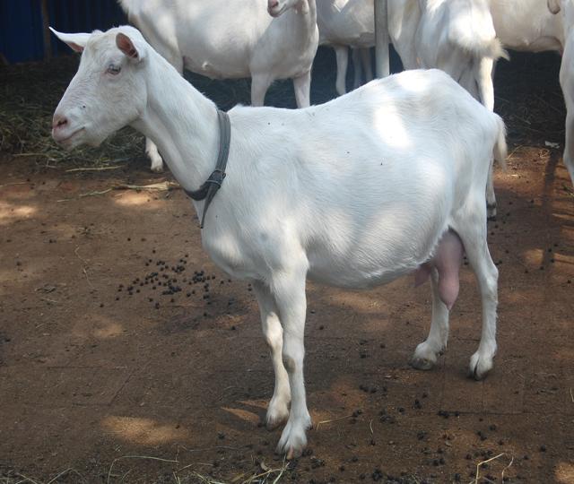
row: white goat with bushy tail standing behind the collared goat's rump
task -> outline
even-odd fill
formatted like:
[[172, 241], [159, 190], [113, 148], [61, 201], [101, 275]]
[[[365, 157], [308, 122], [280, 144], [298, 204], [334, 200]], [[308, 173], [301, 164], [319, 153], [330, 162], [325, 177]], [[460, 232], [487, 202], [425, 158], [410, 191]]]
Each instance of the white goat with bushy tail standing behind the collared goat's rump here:
[[[389, 0], [388, 34], [405, 69], [439, 68], [494, 109], [492, 68], [506, 53], [487, 0]], [[492, 173], [486, 203], [489, 215], [496, 215]]]

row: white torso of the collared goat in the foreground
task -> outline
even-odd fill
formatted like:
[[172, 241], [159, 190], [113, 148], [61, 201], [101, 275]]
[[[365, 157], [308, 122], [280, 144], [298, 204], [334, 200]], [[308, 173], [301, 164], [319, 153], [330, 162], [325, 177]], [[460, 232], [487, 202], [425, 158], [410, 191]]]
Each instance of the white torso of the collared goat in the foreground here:
[[233, 108], [228, 177], [207, 214], [205, 249], [242, 278], [268, 280], [292, 252], [306, 256], [309, 277], [336, 286], [413, 272], [469, 193], [483, 197], [500, 121], [475, 110], [439, 71], [371, 82], [305, 110]]

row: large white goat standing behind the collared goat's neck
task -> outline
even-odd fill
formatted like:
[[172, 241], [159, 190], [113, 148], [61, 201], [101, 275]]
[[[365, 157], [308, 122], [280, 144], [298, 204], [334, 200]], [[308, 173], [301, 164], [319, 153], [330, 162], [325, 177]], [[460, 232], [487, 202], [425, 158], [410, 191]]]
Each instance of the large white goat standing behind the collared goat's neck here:
[[[292, 79], [297, 106], [309, 106], [311, 65], [318, 45], [315, 0], [119, 3], [129, 21], [178, 73], [187, 69], [213, 79], [251, 77], [253, 106], [264, 105], [272, 82]], [[161, 171], [161, 156], [149, 138], [145, 151], [152, 170]]]

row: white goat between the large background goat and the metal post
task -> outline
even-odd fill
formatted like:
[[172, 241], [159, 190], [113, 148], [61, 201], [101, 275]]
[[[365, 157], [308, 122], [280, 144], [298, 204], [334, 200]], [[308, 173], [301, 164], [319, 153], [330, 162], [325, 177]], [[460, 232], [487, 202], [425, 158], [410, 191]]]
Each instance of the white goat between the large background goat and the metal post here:
[[374, 8], [373, 0], [317, 0], [319, 45], [335, 49], [335, 89], [339, 95], [347, 91], [349, 47], [352, 48], [355, 89], [361, 85], [363, 69], [368, 82], [373, 78], [369, 48], [375, 45]]

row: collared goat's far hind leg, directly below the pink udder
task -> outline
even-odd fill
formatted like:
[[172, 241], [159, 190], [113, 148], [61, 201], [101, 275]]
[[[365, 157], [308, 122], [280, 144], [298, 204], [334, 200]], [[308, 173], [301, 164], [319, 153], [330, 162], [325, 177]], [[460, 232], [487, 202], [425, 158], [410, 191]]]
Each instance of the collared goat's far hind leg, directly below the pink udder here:
[[439, 272], [431, 268], [432, 317], [431, 331], [426, 341], [422, 341], [414, 350], [411, 365], [428, 370], [437, 364], [439, 353], [447, 348], [448, 342], [448, 307], [440, 298]]

